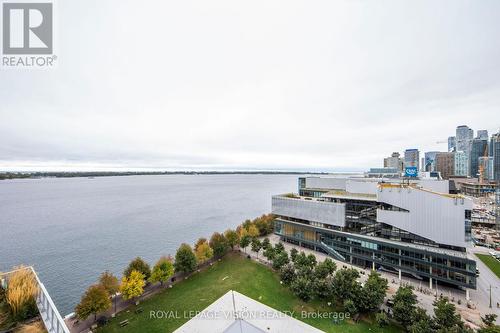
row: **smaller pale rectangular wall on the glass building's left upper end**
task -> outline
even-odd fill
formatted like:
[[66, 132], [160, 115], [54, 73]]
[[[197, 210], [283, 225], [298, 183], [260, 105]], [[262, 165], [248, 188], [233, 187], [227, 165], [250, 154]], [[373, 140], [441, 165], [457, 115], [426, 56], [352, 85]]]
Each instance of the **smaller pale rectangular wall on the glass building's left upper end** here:
[[273, 196], [272, 213], [334, 226], [345, 226], [345, 204]]

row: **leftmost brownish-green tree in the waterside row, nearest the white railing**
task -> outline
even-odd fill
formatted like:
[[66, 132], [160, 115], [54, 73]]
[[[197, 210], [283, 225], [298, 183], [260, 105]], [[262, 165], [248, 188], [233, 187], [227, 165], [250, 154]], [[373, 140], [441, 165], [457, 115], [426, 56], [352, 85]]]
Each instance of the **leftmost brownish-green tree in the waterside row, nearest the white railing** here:
[[100, 284], [90, 286], [85, 294], [83, 294], [80, 303], [75, 308], [76, 316], [80, 319], [87, 319], [91, 314], [94, 315], [94, 321], [97, 319], [97, 314], [104, 312], [111, 307], [109, 294]]

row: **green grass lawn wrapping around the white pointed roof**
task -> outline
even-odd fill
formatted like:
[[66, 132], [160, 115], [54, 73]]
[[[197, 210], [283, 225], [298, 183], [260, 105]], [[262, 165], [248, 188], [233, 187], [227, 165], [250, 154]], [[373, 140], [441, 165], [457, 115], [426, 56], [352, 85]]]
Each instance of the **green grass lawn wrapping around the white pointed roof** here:
[[[255, 300], [281, 311], [332, 312], [333, 308], [320, 302], [304, 303], [279, 283], [278, 276], [269, 268], [237, 254], [226, 256], [207, 270], [176, 284], [148, 300], [139, 307], [144, 311], [135, 314], [135, 305], [129, 311], [117, 315], [99, 332], [172, 332], [188, 319], [154, 319], [150, 311], [177, 311], [183, 317], [185, 311], [201, 311], [229, 290], [236, 290]], [[128, 319], [130, 324], [120, 327], [119, 322]], [[300, 319], [300, 318], [299, 318]], [[332, 319], [304, 319], [308, 324], [326, 332], [399, 332], [396, 327], [384, 330], [367, 319], [357, 324], [346, 322], [333, 324]]]

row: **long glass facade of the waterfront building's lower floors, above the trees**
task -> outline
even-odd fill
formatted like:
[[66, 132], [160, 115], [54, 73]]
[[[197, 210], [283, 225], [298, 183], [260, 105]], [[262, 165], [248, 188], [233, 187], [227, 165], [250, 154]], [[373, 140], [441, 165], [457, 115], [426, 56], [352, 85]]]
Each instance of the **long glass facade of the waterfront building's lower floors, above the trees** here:
[[461, 252], [386, 242], [284, 218], [276, 220], [275, 233], [284, 241], [331, 254], [353, 265], [365, 268], [375, 265], [376, 269], [401, 270], [427, 280], [476, 288], [476, 263]]

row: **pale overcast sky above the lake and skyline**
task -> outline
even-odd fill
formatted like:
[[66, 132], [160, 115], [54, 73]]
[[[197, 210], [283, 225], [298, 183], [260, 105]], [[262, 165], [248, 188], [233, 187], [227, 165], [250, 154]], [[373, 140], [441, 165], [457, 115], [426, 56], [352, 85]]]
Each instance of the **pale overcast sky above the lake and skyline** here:
[[500, 1], [59, 0], [0, 170], [358, 171], [500, 127]]

